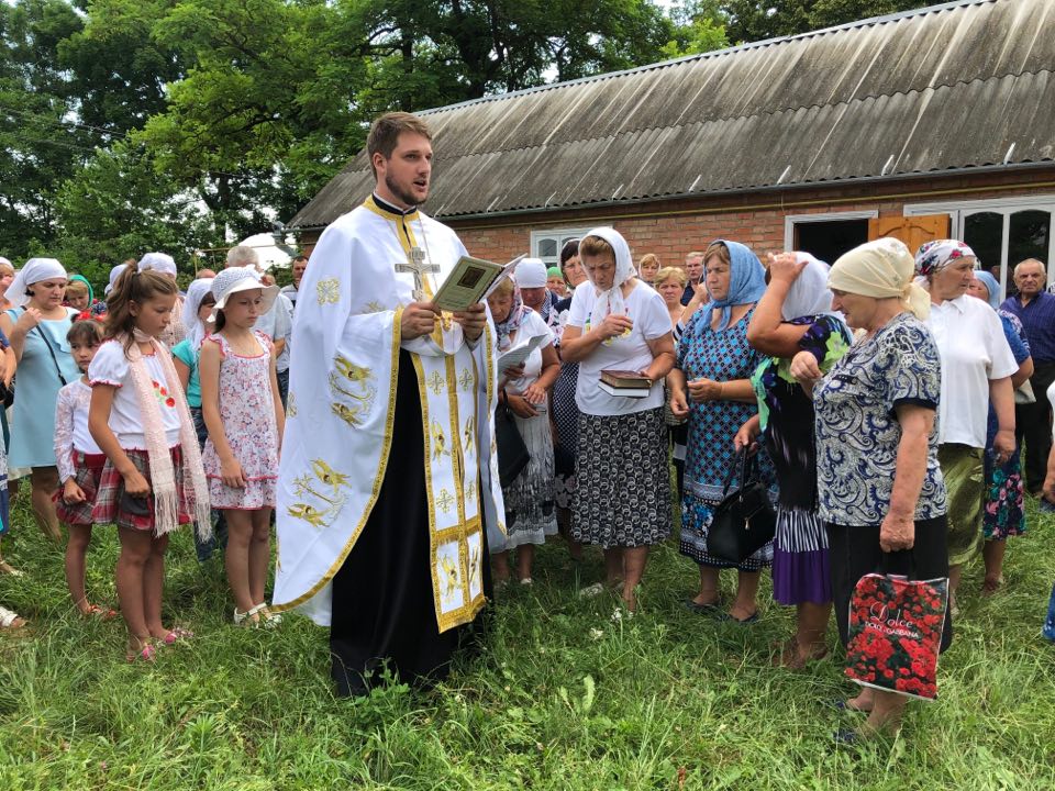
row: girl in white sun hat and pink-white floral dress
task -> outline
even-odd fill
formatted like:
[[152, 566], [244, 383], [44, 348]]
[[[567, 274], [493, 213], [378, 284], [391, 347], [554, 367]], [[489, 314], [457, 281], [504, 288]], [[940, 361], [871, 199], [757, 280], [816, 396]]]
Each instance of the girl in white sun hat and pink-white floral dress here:
[[209, 439], [203, 463], [214, 508], [227, 522], [226, 569], [234, 623], [274, 626], [264, 586], [270, 564], [279, 442], [285, 411], [270, 339], [253, 325], [278, 296], [245, 267], [212, 281], [214, 330], [201, 345], [201, 409]]

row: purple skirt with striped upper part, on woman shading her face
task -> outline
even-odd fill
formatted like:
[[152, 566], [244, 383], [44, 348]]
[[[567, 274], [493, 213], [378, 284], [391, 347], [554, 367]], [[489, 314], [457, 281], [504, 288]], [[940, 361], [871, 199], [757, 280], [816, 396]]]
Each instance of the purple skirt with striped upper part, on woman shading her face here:
[[780, 604], [832, 601], [824, 523], [810, 511], [777, 509], [773, 539], [773, 598]]

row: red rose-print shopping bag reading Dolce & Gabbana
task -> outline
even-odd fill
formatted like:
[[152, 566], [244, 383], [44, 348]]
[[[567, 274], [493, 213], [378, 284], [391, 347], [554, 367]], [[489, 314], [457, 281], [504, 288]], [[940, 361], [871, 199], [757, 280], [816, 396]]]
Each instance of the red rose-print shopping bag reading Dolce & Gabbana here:
[[936, 699], [947, 605], [945, 577], [910, 580], [887, 568], [862, 577], [849, 600], [846, 677], [886, 692]]

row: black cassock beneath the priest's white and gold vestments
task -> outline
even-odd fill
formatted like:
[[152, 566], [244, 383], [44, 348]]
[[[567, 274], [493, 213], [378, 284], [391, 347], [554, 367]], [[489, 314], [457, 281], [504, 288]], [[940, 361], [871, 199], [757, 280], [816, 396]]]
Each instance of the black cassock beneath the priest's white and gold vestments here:
[[[487, 558], [487, 531], [481, 535]], [[482, 572], [490, 599], [486, 559]], [[333, 577], [331, 619], [331, 672], [341, 695], [365, 694], [386, 666], [409, 683], [443, 679], [455, 650], [478, 644], [479, 620], [443, 634], [436, 625], [421, 396], [410, 354], [402, 349], [385, 480], [355, 547]]]

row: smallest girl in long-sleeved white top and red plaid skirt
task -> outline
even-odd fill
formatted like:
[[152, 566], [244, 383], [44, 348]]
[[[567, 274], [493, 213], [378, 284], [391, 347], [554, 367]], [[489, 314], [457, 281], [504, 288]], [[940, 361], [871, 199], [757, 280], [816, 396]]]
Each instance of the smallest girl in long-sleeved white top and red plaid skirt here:
[[82, 376], [58, 391], [55, 403], [55, 459], [58, 465], [56, 514], [69, 531], [66, 543], [66, 584], [82, 615], [112, 619], [116, 612], [91, 604], [85, 594], [85, 558], [91, 542], [91, 510], [99, 491], [107, 456], [88, 433], [91, 387], [88, 366], [102, 343], [102, 325], [87, 319], [74, 322], [66, 333], [70, 354]]

